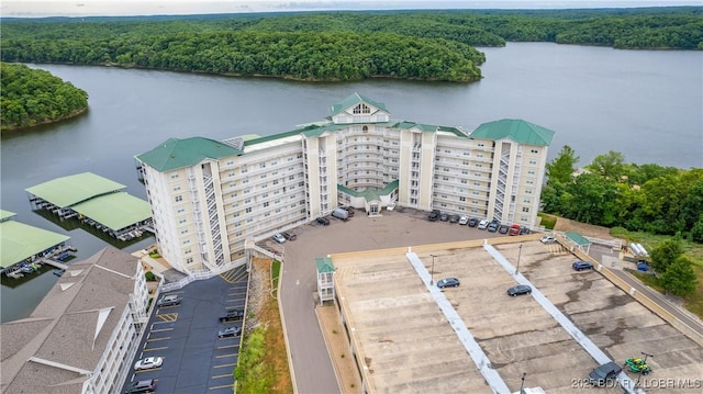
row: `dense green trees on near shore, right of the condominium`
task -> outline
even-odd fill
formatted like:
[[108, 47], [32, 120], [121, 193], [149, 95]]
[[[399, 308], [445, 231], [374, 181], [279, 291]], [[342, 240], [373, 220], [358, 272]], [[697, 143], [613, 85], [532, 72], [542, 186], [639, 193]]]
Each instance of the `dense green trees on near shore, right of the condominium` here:
[[578, 173], [578, 160], [567, 145], [547, 164], [544, 212], [703, 244], [703, 169], [627, 164], [611, 150]]

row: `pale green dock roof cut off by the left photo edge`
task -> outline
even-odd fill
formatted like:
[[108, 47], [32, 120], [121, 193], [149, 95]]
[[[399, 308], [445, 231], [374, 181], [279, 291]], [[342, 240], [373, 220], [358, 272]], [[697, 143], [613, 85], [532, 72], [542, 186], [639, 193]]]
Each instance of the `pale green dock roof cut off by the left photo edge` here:
[[0, 222], [0, 267], [8, 268], [69, 237], [15, 221]]

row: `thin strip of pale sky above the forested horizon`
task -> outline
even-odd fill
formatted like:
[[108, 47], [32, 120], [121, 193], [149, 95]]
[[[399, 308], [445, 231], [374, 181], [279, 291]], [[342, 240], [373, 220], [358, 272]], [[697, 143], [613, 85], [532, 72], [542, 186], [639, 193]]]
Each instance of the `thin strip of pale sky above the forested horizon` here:
[[187, 15], [330, 10], [576, 9], [703, 5], [703, 0], [3, 0], [0, 16]]

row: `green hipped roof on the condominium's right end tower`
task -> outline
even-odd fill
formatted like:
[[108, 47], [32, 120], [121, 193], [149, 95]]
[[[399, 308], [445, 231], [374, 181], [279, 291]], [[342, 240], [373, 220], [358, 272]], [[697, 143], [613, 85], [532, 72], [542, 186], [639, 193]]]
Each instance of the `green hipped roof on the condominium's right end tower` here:
[[524, 145], [549, 146], [554, 132], [522, 120], [504, 119], [481, 124], [469, 137], [483, 139], [510, 138]]

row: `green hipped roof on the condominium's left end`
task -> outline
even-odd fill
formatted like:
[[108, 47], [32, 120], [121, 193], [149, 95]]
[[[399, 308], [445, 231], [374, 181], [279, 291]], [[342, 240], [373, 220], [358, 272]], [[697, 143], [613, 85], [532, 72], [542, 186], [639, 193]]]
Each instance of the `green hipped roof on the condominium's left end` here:
[[191, 137], [186, 139], [169, 138], [156, 148], [137, 155], [136, 158], [157, 171], [164, 172], [194, 166], [204, 159], [220, 159], [241, 154], [241, 150], [224, 143], [210, 138]]

